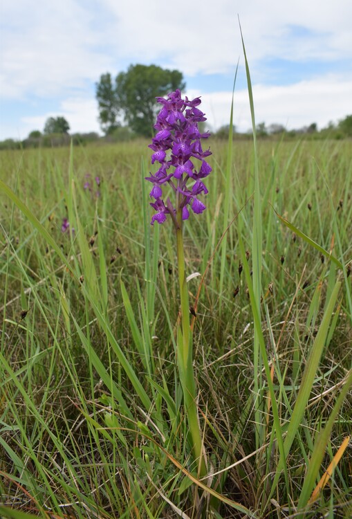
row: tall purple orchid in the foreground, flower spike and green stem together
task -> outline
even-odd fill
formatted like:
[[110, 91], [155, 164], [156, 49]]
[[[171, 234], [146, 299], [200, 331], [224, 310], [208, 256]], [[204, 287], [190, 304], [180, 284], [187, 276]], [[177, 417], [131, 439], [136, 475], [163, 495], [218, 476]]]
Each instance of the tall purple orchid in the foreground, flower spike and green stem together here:
[[[203, 151], [201, 139], [208, 138], [209, 133], [201, 134], [198, 122], [206, 120], [204, 113], [197, 107], [201, 104], [200, 98], [192, 101], [181, 98], [180, 91], [169, 93], [167, 99], [157, 98], [163, 105], [156, 119], [154, 128], [157, 130], [149, 147], [154, 151], [151, 163], [160, 164], [156, 174], [150, 174], [147, 181], [153, 183], [150, 196], [155, 201], [151, 207], [156, 213], [151, 219], [163, 224], [167, 215], [170, 215], [176, 230], [176, 248], [178, 264], [178, 283], [180, 286], [180, 326], [177, 334], [176, 359], [183, 399], [185, 415], [189, 426], [189, 441], [192, 444], [194, 459], [199, 464], [199, 475], [207, 473], [203, 457], [203, 439], [198, 424], [198, 408], [196, 405], [196, 382], [193, 370], [192, 329], [189, 322], [189, 295], [187, 276], [185, 271], [185, 253], [183, 248], [183, 220], [189, 218], [189, 208], [199, 215], [205, 210], [201, 200], [207, 194], [203, 179], [210, 174], [212, 168], [205, 161], [211, 155], [209, 149]], [[172, 204], [169, 198], [163, 198], [165, 184], [175, 192], [176, 203]], [[193, 308], [193, 315], [196, 313]]]

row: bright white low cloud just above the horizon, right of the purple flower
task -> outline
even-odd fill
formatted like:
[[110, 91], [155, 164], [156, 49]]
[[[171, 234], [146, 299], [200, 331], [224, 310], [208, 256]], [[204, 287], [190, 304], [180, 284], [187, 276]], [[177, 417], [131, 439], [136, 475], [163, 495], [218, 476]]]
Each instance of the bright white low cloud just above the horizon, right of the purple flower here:
[[[311, 122], [319, 128], [329, 121], [344, 118], [351, 113], [352, 78], [326, 76], [288, 86], [253, 86], [256, 122], [267, 125], [279, 123], [287, 129], [298, 129]], [[189, 95], [199, 95], [189, 92]], [[202, 109], [214, 129], [230, 122], [232, 92], [214, 92], [202, 96]], [[234, 124], [239, 131], [251, 128], [248, 91], [234, 93]]]

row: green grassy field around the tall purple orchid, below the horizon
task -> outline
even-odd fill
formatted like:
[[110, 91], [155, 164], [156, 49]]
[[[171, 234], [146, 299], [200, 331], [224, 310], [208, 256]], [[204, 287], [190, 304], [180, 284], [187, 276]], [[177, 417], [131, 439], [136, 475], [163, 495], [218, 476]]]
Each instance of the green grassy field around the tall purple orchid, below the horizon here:
[[3, 517], [352, 516], [351, 141], [207, 144], [185, 226], [203, 478], [147, 141], [1, 152]]

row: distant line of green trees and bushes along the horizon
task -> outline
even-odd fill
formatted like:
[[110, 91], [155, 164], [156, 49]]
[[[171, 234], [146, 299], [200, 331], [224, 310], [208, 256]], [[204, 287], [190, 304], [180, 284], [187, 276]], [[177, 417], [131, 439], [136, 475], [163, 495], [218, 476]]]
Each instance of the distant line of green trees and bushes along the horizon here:
[[[154, 122], [160, 105], [156, 97], [165, 97], [170, 91], [186, 88], [183, 73], [178, 70], [162, 69], [156, 65], [131, 65], [126, 72], [113, 78], [110, 72], [100, 76], [95, 84], [95, 97], [98, 102], [99, 122], [104, 138], [95, 132], [69, 134], [70, 126], [63, 116], [46, 120], [43, 132], [33, 130], [23, 141], [6, 139], [0, 142], [0, 149], [17, 147], [60, 146], [73, 141], [84, 145], [96, 140], [107, 142], [131, 140], [135, 137], [150, 138], [154, 134]], [[265, 122], [256, 128], [259, 138], [285, 135], [289, 138], [306, 134], [311, 138], [345, 138], [352, 136], [352, 115], [334, 125], [318, 131], [315, 122], [307, 127], [287, 131], [284, 126]], [[215, 138], [228, 138], [229, 126], [225, 125], [212, 133]], [[250, 138], [252, 131], [239, 133], [233, 128], [234, 138]]]

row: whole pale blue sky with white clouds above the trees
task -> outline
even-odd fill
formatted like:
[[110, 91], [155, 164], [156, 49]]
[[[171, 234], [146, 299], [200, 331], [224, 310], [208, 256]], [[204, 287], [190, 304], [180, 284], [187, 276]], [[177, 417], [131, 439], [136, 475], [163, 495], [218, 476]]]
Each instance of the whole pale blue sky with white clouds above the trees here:
[[318, 128], [352, 114], [351, 0], [0, 0], [0, 140], [64, 116], [100, 131], [95, 83], [131, 64], [184, 75], [212, 130]]

